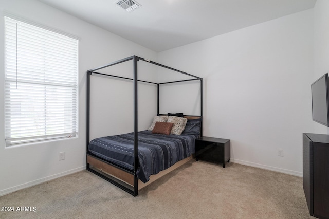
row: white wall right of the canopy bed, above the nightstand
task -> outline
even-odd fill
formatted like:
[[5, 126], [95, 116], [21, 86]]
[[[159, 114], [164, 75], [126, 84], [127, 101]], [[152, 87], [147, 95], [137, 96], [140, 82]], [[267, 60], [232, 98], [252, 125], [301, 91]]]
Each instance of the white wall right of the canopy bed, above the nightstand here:
[[231, 139], [232, 162], [302, 175], [302, 133], [313, 129], [312, 9], [160, 52], [158, 62], [204, 78], [203, 134]]

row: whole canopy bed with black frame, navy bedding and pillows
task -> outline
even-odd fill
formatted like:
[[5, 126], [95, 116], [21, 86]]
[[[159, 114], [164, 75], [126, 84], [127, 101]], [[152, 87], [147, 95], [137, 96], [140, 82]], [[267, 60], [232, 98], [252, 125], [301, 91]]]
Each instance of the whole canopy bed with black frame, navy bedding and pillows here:
[[[90, 141], [90, 76], [92, 74], [104, 75], [97, 72], [97, 70], [129, 60], [134, 62], [134, 78], [123, 79], [134, 81], [134, 132], [99, 137]], [[202, 90], [202, 78], [137, 56], [128, 57], [87, 71], [87, 170], [134, 196], [138, 195], [138, 189], [192, 159], [195, 152], [195, 139], [202, 135], [202, 91], [200, 92], [200, 115], [186, 116], [182, 113], [179, 115], [163, 115], [159, 114], [159, 86], [165, 83], [156, 83], [158, 87], [157, 114], [153, 118], [151, 127], [148, 130], [138, 132], [137, 82], [139, 80], [136, 79], [137, 62], [140, 60], [193, 77], [193, 79], [166, 83], [199, 80]], [[118, 78], [118, 76], [106, 76]], [[147, 81], [143, 81], [143, 83], [145, 82]], [[165, 121], [163, 121], [164, 118], [166, 118]]]

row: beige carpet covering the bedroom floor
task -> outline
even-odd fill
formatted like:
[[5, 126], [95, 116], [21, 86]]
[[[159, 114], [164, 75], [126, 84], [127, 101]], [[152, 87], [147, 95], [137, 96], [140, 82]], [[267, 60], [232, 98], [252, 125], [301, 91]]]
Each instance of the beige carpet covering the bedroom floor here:
[[81, 171], [2, 196], [0, 206], [15, 207], [0, 218], [312, 218], [300, 177], [194, 160], [137, 197]]

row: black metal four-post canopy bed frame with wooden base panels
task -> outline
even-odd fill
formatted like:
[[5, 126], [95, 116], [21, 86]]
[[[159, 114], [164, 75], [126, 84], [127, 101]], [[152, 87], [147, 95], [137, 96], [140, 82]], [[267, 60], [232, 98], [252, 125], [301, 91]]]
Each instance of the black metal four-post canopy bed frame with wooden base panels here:
[[[133, 78], [126, 78], [126, 77], [121, 77], [121, 76], [115, 76], [115, 75], [108, 75], [108, 74], [104, 74], [104, 73], [100, 73], [97, 72], [100, 69], [104, 69], [107, 67], [111, 67], [123, 62], [127, 62], [127, 61], [133, 61]], [[170, 82], [164, 82], [164, 83], [155, 83], [155, 82], [149, 82], [149, 81], [143, 81], [143, 80], [138, 80], [137, 78], [137, 70], [138, 70], [138, 62], [139, 61], [144, 61], [144, 62], [148, 62], [166, 69], [170, 69], [172, 71], [178, 72], [179, 74], [184, 74], [187, 76], [192, 77], [192, 79], [187, 79], [187, 80], [178, 80], [178, 81], [170, 81]], [[114, 163], [112, 161], [109, 161], [107, 159], [104, 159], [104, 157], [102, 156], [98, 156], [95, 153], [90, 152], [90, 150], [88, 149], [88, 146], [90, 144], [90, 76], [92, 75], [102, 75], [102, 76], [106, 76], [109, 78], [119, 78], [119, 79], [124, 79], [124, 80], [132, 80], [133, 81], [133, 92], [134, 92], [134, 131], [133, 133], [131, 133], [131, 143], [133, 144], [133, 168], [132, 169], [127, 169], [125, 167], [122, 167], [121, 165], [118, 165], [117, 163]], [[159, 114], [159, 87], [163, 84], [169, 84], [169, 83], [179, 83], [179, 82], [187, 82], [187, 81], [195, 81], [195, 80], [199, 80], [200, 81], [200, 115], [197, 116], [185, 116], [185, 118], [190, 119], [190, 120], [195, 120], [196, 118], [199, 119], [200, 123], [199, 123], [199, 136], [202, 136], [202, 114], [203, 114], [203, 83], [202, 83], [202, 78], [196, 77], [194, 75], [188, 74], [186, 72], [138, 57], [138, 56], [131, 56], [131, 57], [127, 57], [125, 59], [121, 59], [118, 60], [116, 62], [112, 62], [109, 63], [107, 65], [98, 67], [98, 68], [94, 68], [94, 69], [90, 69], [87, 71], [87, 127], [86, 127], [86, 141], [87, 141], [87, 170], [89, 170], [90, 172], [95, 173], [96, 175], [106, 179], [109, 182], [112, 182], [112, 184], [118, 186], [119, 188], [123, 189], [126, 192], [129, 192], [130, 194], [136, 196], [138, 195], [138, 189], [142, 188], [143, 185], [147, 185], [150, 182], [154, 181], [155, 179], [161, 177], [162, 175], [165, 175], [166, 173], [170, 172], [171, 170], [179, 167], [180, 165], [184, 164], [185, 162], [189, 161], [190, 159], [192, 159], [192, 156], [190, 155], [187, 158], [183, 158], [182, 160], [178, 161], [175, 165], [172, 165], [171, 167], [169, 167], [166, 170], [162, 170], [160, 171], [158, 174], [158, 177], [154, 177], [154, 179], [148, 181], [146, 184], [143, 184], [143, 182], [139, 183], [139, 179], [137, 176], [137, 172], [138, 172], [138, 168], [140, 165], [140, 160], [138, 158], [138, 136], [142, 135], [141, 133], [139, 134], [138, 132], [138, 110], [137, 110], [137, 87], [138, 87], [138, 82], [144, 82], [144, 83], [151, 83], [151, 84], [155, 84], [157, 86], [157, 115], [161, 116], [161, 114]], [[141, 131], [143, 132], [143, 131]], [[175, 137], [175, 136], [173, 136]], [[171, 137], [171, 138], [173, 138]], [[194, 137], [195, 139], [195, 137]], [[194, 144], [194, 139], [193, 139], [193, 144]], [[140, 142], [141, 143], [141, 142]], [[194, 152], [193, 152], [194, 153]], [[154, 176], [154, 175], [152, 175]]]

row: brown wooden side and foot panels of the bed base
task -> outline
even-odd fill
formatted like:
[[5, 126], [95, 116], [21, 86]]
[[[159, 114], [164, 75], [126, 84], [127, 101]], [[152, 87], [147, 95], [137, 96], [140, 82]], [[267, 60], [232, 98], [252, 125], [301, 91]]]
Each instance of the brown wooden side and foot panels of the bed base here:
[[[178, 167], [184, 165], [185, 163], [189, 162], [191, 159], [192, 159], [192, 156], [187, 157], [183, 160], [176, 162], [173, 166], [169, 167], [168, 169], [162, 170], [158, 174], [151, 175], [150, 180], [148, 182], [144, 183], [144, 182], [138, 180], [138, 190], [144, 188], [145, 186], [151, 184], [152, 182], [159, 179], [160, 177], [162, 177], [162, 176], [170, 173], [171, 171], [177, 169]], [[95, 171], [102, 173], [103, 175], [105, 174], [105, 177], [110, 176], [110, 177], [116, 178], [116, 179], [120, 180], [121, 182], [123, 182], [124, 184], [127, 184], [132, 187], [134, 185], [134, 175], [132, 173], [128, 173], [123, 170], [120, 170], [120, 169], [118, 169], [114, 166], [111, 166], [91, 155], [87, 155], [87, 163], [89, 164], [90, 169], [94, 169]]]

